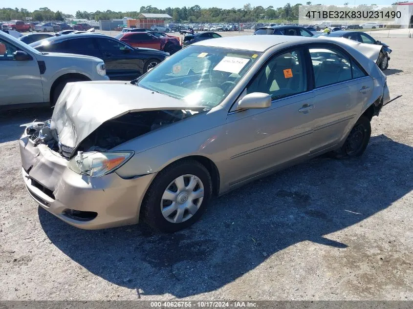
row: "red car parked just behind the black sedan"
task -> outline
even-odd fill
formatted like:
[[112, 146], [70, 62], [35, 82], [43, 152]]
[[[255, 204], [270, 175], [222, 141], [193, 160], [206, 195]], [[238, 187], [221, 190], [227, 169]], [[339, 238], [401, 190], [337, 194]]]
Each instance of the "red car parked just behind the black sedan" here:
[[182, 48], [176, 37], [155, 36], [148, 32], [124, 32], [115, 38], [133, 47], [153, 48], [170, 53], [171, 55]]

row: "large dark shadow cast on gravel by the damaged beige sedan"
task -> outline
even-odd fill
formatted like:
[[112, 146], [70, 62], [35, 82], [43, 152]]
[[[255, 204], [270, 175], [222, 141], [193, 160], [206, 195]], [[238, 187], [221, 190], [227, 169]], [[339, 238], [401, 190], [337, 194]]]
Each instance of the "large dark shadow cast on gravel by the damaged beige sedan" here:
[[81, 230], [38, 213], [50, 241], [93, 274], [141, 294], [186, 297], [302, 241], [347, 247], [326, 235], [391, 206], [413, 189], [412, 174], [413, 148], [381, 135], [361, 158], [317, 158], [216, 198], [199, 222], [174, 234], [142, 225]]

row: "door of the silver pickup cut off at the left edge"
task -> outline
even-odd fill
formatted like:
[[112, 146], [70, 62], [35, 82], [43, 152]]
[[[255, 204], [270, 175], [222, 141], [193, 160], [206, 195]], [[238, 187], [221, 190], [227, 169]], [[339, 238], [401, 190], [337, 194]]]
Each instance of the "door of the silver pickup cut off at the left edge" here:
[[43, 103], [43, 86], [35, 58], [17, 61], [13, 53], [20, 50], [0, 38], [0, 105]]

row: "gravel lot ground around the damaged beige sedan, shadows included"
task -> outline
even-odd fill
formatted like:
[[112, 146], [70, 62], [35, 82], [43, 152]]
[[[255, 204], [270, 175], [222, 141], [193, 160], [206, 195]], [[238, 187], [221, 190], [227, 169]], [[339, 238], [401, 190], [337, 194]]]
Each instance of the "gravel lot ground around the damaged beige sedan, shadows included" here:
[[413, 300], [413, 40], [386, 39], [391, 96], [359, 159], [317, 158], [217, 198], [193, 227], [87, 231], [22, 182], [19, 124], [0, 116], [0, 299]]

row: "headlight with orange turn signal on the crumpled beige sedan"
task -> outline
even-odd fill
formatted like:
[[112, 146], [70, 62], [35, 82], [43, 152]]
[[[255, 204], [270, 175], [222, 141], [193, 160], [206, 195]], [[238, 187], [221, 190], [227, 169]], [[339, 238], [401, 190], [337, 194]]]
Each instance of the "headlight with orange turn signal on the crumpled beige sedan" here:
[[67, 165], [72, 171], [91, 177], [100, 177], [113, 172], [124, 165], [133, 151], [82, 152], [72, 158]]

